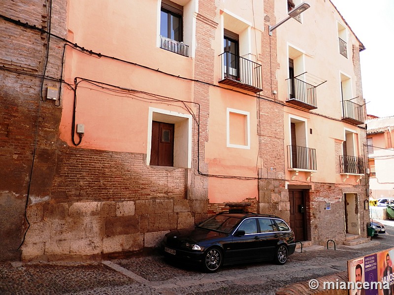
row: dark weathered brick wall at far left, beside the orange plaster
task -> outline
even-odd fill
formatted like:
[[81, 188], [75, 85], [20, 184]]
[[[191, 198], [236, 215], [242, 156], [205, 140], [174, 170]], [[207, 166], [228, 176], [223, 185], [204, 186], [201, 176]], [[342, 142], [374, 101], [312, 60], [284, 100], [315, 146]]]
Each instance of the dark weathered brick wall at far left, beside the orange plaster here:
[[[53, 1], [52, 31], [58, 34], [65, 33], [65, 7], [66, 2]], [[4, 0], [0, 4], [0, 14], [43, 29], [48, 29], [47, 9], [45, 0]], [[41, 99], [42, 79], [32, 76], [44, 74], [47, 35], [3, 19], [0, 31], [0, 260], [14, 260], [19, 259], [18, 247], [27, 227], [24, 211], [34, 147], [31, 202], [40, 196], [47, 198], [50, 189], [61, 110], [53, 101]], [[46, 75], [60, 77], [62, 51], [61, 42], [51, 38]], [[59, 87], [48, 81], [44, 81], [44, 97], [47, 86]]]

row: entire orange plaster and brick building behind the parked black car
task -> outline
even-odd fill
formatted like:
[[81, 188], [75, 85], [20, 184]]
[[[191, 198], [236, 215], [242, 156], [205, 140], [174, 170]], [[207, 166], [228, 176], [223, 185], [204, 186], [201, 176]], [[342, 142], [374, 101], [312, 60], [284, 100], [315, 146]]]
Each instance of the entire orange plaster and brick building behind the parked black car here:
[[366, 236], [363, 46], [331, 2], [272, 34], [297, 3], [5, 2], [5, 259], [152, 248], [235, 209]]

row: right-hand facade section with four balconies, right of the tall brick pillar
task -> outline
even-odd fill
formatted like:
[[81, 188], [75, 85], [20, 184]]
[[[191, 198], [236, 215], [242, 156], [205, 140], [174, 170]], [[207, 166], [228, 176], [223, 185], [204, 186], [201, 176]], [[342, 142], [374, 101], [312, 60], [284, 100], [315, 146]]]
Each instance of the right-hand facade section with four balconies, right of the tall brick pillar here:
[[[281, 1], [277, 19], [301, 1]], [[330, 1], [278, 27], [278, 100], [284, 101], [284, 149], [290, 222], [300, 240], [365, 236], [362, 43]], [[294, 215], [294, 216], [293, 216]], [[297, 235], [298, 233], [298, 235]]]

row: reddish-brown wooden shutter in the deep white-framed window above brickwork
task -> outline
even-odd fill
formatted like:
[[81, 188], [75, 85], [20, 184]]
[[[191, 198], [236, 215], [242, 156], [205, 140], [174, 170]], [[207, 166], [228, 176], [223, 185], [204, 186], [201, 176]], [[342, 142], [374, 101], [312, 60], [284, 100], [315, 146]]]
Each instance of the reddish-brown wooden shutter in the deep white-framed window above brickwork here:
[[152, 121], [150, 165], [173, 166], [174, 124]]

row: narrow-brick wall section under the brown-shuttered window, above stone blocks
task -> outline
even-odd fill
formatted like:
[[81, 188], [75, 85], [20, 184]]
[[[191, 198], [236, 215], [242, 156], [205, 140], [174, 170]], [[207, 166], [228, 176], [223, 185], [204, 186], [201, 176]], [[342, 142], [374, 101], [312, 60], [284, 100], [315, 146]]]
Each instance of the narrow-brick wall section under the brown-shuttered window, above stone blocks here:
[[143, 154], [62, 148], [56, 159], [56, 202], [183, 198], [187, 170], [152, 167]]

